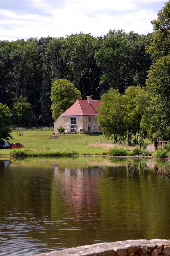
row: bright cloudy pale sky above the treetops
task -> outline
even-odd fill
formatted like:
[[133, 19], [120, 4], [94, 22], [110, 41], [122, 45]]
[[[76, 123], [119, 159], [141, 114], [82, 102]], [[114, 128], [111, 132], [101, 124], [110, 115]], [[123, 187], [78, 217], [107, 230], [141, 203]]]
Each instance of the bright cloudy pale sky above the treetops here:
[[0, 0], [0, 40], [153, 32], [162, 0]]

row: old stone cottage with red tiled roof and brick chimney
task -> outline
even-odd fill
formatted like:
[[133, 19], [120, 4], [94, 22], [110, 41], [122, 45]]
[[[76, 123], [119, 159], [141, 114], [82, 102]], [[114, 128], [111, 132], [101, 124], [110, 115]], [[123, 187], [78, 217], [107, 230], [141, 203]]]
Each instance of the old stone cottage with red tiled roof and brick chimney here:
[[55, 120], [54, 132], [57, 133], [59, 126], [65, 128], [65, 133], [90, 134], [92, 132], [101, 132], [101, 127], [96, 124], [96, 115], [99, 112], [96, 108], [101, 101], [91, 100], [87, 96], [86, 100], [76, 100], [74, 104], [62, 113]]

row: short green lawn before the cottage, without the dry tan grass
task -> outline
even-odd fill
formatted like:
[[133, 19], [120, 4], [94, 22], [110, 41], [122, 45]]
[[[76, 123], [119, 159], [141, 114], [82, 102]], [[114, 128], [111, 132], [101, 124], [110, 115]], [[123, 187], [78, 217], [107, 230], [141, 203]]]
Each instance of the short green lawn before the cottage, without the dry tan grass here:
[[[19, 135], [19, 132], [18, 132]], [[22, 135], [22, 132], [21, 132]], [[52, 131], [24, 131], [23, 136], [17, 136], [17, 132], [12, 132], [14, 139], [10, 143], [18, 142], [23, 144], [26, 148], [33, 149], [56, 149], [56, 150], [76, 150], [80, 154], [101, 154], [105, 149], [87, 147], [87, 143], [109, 143], [102, 134], [64, 134], [57, 139], [50, 139]], [[45, 143], [46, 142], [46, 143]], [[48, 144], [47, 144], [48, 143]], [[9, 149], [1, 149], [1, 155], [9, 155]]]

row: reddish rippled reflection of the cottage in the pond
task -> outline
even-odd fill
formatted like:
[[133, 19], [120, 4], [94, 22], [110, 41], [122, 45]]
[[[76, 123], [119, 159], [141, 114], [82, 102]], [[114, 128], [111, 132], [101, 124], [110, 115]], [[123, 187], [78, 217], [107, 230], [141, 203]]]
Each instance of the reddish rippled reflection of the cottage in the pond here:
[[[61, 170], [54, 166], [54, 187], [61, 187], [62, 197], [70, 205], [70, 211], [77, 219], [88, 218], [98, 207], [98, 179], [104, 173], [103, 168], [70, 168]], [[97, 217], [97, 216], [96, 216]]]

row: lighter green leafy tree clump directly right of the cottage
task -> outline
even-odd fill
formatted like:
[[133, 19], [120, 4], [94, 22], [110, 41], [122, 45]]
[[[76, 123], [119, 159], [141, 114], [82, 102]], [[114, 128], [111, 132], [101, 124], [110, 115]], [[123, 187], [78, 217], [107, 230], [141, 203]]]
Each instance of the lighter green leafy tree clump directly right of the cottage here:
[[103, 94], [96, 118], [106, 136], [109, 138], [114, 134], [117, 142], [119, 135], [119, 141], [125, 141], [126, 132], [129, 131], [134, 134], [134, 143], [137, 144], [147, 100], [147, 93], [139, 86], [128, 87], [124, 94], [116, 89], [110, 89]]

